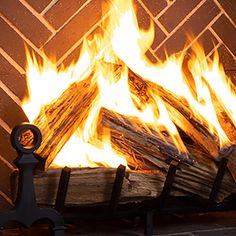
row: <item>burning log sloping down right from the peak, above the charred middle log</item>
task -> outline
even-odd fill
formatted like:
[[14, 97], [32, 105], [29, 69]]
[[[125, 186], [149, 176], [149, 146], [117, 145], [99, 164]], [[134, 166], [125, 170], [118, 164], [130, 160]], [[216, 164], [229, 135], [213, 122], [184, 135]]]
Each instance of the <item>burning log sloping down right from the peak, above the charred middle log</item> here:
[[144, 81], [132, 71], [129, 71], [129, 81], [131, 91], [137, 94], [138, 98], [141, 99], [141, 103], [147, 102], [152, 97], [149, 91], [158, 94], [170, 111], [169, 115], [172, 121], [204, 151], [214, 158], [218, 157], [218, 140], [209, 133], [207, 127], [201, 121], [192, 115], [191, 109], [183, 98], [176, 97], [157, 84]]

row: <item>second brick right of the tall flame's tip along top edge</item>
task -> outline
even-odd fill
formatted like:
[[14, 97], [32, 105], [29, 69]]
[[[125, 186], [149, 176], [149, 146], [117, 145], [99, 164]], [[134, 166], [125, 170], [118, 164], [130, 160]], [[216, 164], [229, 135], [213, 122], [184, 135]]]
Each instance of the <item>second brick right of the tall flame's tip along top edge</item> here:
[[159, 21], [170, 33], [201, 0], [178, 0], [159, 17]]

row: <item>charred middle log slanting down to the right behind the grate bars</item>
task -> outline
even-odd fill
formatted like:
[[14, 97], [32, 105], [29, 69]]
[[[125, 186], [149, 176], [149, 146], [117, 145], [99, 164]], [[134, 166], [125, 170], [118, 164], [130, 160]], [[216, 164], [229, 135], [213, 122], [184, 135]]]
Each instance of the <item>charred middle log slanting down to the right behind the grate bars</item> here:
[[[112, 144], [115, 149], [126, 156], [129, 155], [128, 164], [132, 165], [139, 160], [143, 162], [142, 169], [145, 169], [146, 165], [147, 169], [160, 169], [167, 172], [170, 160], [178, 159], [177, 150], [173, 149], [171, 142], [165, 143], [156, 134], [152, 135], [145, 131], [132, 118], [106, 109], [102, 109], [100, 116], [100, 129], [105, 127], [111, 130]], [[193, 165], [180, 164], [176, 172], [174, 187], [179, 191], [208, 198], [218, 170], [217, 163], [196, 146], [187, 147], [191, 153], [189, 156], [194, 157], [196, 162], [193, 162]], [[191, 160], [189, 159], [189, 162]], [[229, 172], [226, 171], [218, 201], [222, 201], [235, 190], [236, 184]]]

